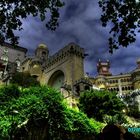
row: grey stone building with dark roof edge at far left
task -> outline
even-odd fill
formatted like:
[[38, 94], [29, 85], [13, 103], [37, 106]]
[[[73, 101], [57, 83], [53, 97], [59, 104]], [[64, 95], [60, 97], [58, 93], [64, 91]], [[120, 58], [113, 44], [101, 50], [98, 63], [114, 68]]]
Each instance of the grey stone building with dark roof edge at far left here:
[[3, 43], [0, 45], [0, 83], [8, 77], [8, 69], [20, 70], [21, 63], [26, 57], [27, 49], [20, 46], [13, 46], [9, 43]]

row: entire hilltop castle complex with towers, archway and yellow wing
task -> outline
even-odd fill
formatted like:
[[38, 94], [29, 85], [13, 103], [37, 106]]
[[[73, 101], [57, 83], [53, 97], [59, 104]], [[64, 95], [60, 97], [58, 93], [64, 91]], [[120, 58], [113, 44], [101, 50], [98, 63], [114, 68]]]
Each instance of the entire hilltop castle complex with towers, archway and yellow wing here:
[[61, 90], [66, 93], [65, 97], [71, 93], [79, 96], [81, 91], [93, 87], [120, 94], [140, 88], [140, 59], [137, 60], [137, 67], [133, 71], [119, 75], [110, 73], [109, 61], [99, 60], [98, 76], [92, 78], [85, 77], [83, 62], [85, 52], [75, 43], [69, 43], [52, 56], [49, 56], [49, 49], [45, 44], [40, 44], [36, 48], [34, 56], [26, 56], [27, 49], [14, 48], [8, 43], [2, 44], [0, 48], [0, 73], [4, 73], [7, 63], [16, 62], [19, 71], [29, 72], [42, 85], [47, 84]]

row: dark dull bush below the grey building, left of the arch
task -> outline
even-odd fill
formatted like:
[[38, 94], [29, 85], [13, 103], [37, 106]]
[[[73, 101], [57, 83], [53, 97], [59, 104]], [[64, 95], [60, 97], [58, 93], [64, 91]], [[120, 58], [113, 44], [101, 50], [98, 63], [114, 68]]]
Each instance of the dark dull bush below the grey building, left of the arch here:
[[30, 73], [24, 72], [16, 72], [12, 77], [11, 83], [25, 88], [40, 85], [37, 79], [31, 76]]

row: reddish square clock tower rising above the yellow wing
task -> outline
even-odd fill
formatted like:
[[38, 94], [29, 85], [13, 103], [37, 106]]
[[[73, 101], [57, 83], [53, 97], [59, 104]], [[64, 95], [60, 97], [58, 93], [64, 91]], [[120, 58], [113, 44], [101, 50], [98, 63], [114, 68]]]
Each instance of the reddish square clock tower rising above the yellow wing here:
[[111, 76], [112, 74], [109, 71], [110, 62], [107, 60], [106, 62], [101, 62], [100, 60], [97, 63], [97, 71], [99, 75], [103, 76]]

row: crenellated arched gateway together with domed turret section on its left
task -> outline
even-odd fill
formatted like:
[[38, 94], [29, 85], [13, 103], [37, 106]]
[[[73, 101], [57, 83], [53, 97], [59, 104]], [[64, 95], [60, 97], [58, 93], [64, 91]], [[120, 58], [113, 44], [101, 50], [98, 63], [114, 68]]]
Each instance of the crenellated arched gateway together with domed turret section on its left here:
[[22, 68], [35, 75], [32, 67], [39, 64], [37, 79], [41, 84], [60, 89], [65, 83], [72, 90], [75, 82], [84, 77], [83, 59], [84, 49], [75, 43], [69, 43], [52, 56], [49, 56], [48, 47], [40, 44], [35, 50], [35, 57], [27, 57]]

